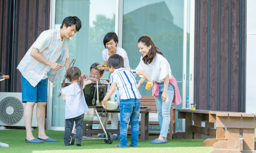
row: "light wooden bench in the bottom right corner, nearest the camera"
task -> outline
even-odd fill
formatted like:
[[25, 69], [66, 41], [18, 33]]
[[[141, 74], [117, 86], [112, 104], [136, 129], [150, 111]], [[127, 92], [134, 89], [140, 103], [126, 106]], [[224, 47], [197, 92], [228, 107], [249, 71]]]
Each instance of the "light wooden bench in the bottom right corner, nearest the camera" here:
[[[256, 153], [254, 138], [256, 114], [217, 113], [216, 127], [223, 130], [228, 127], [228, 131], [225, 131], [224, 139], [215, 139], [216, 143], [213, 144], [215, 150], [210, 153]], [[216, 131], [216, 135], [223, 133], [223, 130]]]

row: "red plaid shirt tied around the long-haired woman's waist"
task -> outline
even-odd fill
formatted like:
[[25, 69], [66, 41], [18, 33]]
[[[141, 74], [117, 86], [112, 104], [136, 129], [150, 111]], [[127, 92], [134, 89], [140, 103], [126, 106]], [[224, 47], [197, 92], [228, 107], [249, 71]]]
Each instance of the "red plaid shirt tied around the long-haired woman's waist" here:
[[[174, 86], [174, 97], [173, 97], [173, 103], [175, 103], [176, 105], [179, 105], [182, 103], [182, 98], [181, 98], [181, 95], [180, 95], [180, 91], [179, 91], [179, 88], [178, 88], [178, 84], [177, 84], [177, 81], [176, 79], [173, 77], [172, 75], [172, 78], [169, 79], [169, 83], [171, 83], [173, 86]], [[154, 83], [154, 86], [153, 86], [153, 89], [152, 89], [152, 96], [155, 96], [155, 98], [159, 98], [159, 83], [155, 82]]]

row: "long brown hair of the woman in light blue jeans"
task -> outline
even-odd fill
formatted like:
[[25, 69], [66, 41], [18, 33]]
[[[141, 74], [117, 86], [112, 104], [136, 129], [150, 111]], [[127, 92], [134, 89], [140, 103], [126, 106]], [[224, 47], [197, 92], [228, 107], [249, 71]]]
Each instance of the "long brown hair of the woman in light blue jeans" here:
[[139, 38], [138, 43], [143, 43], [147, 47], [151, 45], [148, 55], [146, 55], [142, 58], [142, 60], [145, 64], [150, 64], [153, 61], [153, 59], [155, 58], [156, 53], [161, 54], [163, 56], [162, 52], [160, 52], [159, 48], [157, 48], [155, 46], [155, 44], [153, 43], [151, 38], [149, 38], [148, 36], [142, 36], [141, 38]]

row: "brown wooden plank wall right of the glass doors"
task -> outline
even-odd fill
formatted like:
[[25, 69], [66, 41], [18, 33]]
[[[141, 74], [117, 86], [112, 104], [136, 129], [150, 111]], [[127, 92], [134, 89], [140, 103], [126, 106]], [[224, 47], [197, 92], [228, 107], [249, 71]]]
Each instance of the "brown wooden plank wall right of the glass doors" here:
[[195, 0], [194, 103], [245, 112], [246, 0]]

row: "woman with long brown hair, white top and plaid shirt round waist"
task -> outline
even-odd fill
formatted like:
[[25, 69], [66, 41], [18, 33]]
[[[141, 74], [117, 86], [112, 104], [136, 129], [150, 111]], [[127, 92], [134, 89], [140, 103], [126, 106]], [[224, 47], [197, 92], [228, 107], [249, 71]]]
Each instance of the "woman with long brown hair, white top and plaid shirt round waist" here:
[[[139, 38], [138, 48], [142, 56], [136, 70], [146, 71], [149, 77], [155, 81], [154, 86], [152, 84], [147, 86], [147, 88], [151, 89], [153, 87], [152, 96], [155, 96], [161, 132], [159, 138], [150, 143], [166, 143], [168, 127], [171, 120], [170, 108], [172, 102], [175, 102], [176, 105], [182, 103], [178, 85], [172, 75], [170, 64], [148, 36]], [[145, 81], [146, 78], [141, 77], [137, 85], [138, 88]]]

